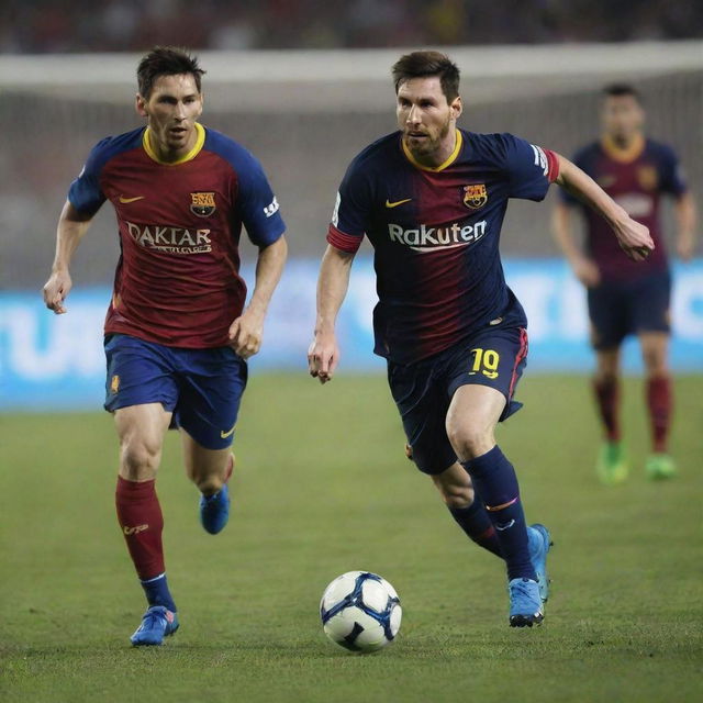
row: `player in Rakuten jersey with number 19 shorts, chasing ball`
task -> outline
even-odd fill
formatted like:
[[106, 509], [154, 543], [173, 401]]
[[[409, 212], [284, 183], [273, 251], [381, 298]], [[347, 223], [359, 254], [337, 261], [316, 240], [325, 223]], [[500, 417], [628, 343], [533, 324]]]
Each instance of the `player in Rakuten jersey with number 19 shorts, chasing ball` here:
[[511, 626], [532, 626], [548, 596], [550, 536], [527, 527], [515, 471], [494, 436], [520, 408], [513, 393], [527, 354], [525, 313], [499, 255], [507, 200], [542, 200], [556, 181], [599, 212], [634, 259], [652, 243], [562, 156], [511, 134], [458, 130], [459, 70], [445, 55], [409, 54], [392, 74], [400, 131], [365, 148], [339, 187], [310, 372], [323, 383], [333, 378], [335, 320], [366, 235], [379, 297], [375, 352], [388, 360], [409, 454], [466, 534], [505, 560]]

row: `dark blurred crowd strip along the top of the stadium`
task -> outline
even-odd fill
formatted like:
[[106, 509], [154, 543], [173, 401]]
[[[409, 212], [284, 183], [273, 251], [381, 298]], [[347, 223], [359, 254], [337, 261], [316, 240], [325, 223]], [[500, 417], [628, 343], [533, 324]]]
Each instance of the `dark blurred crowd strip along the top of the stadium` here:
[[2, 0], [0, 54], [703, 37], [701, 0]]

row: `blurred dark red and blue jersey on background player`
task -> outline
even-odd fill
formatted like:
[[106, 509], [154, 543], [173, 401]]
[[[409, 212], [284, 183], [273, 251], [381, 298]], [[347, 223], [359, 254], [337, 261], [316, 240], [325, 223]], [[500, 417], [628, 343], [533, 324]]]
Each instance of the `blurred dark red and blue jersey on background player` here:
[[594, 211], [562, 190], [563, 201], [581, 205], [587, 223], [585, 249], [603, 280], [633, 280], [667, 270], [667, 247], [659, 216], [662, 193], [679, 198], [687, 191], [673, 150], [640, 137], [623, 150], [607, 138], [582, 148], [573, 163], [584, 170], [631, 217], [649, 227], [655, 250], [645, 261], [628, 259], [609, 224]]

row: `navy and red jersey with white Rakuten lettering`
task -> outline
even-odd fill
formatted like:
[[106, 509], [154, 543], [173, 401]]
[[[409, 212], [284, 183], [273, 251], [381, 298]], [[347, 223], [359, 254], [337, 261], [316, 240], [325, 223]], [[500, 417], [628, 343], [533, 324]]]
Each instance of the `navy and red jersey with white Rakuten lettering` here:
[[[436, 168], [420, 165], [400, 132], [364, 149], [339, 187], [327, 241], [375, 249], [375, 352], [413, 364], [492, 321], [525, 326], [499, 253], [510, 198], [542, 200], [556, 156], [512, 134], [457, 130]], [[509, 317], [509, 319], [507, 319]]]

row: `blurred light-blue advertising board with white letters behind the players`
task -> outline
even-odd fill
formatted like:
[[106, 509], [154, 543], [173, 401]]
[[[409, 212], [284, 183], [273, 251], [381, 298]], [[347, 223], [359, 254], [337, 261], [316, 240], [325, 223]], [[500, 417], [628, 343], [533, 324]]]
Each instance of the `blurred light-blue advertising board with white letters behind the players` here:
[[[588, 345], [583, 288], [560, 259], [507, 259], [509, 284], [529, 319], [529, 372], [587, 373], [593, 368]], [[250, 360], [253, 373], [305, 372], [315, 317], [319, 263], [291, 260], [274, 297], [264, 347]], [[677, 264], [672, 302], [671, 364], [677, 372], [703, 372], [703, 259]], [[253, 280], [253, 269], [244, 270]], [[100, 408], [104, 387], [102, 322], [108, 288], [71, 291], [68, 313], [54, 315], [38, 293], [0, 292], [0, 410]], [[371, 310], [376, 281], [369, 256], [354, 264], [337, 333], [339, 373], [381, 372], [373, 347]], [[623, 355], [627, 372], [639, 372], [634, 341]]]

